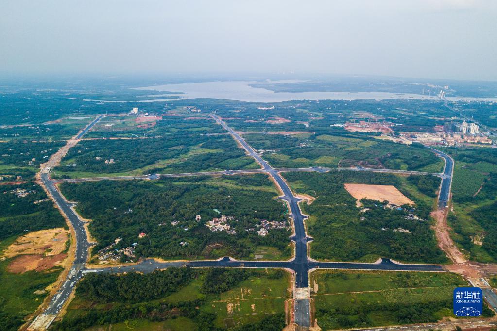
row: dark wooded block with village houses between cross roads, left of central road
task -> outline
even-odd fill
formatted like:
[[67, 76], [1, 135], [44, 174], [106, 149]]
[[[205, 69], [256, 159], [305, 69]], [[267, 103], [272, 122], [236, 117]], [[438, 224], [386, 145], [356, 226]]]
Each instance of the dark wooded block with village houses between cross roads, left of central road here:
[[[60, 188], [92, 220], [89, 229], [98, 241], [94, 253], [119, 237], [119, 247], [138, 243], [137, 258], [285, 260], [292, 254], [287, 207], [263, 174], [64, 183]], [[205, 225], [222, 214], [233, 217], [227, 224], [236, 234]], [[263, 219], [286, 222], [286, 228], [258, 236], [255, 231]], [[142, 232], [147, 236], [140, 239]]]

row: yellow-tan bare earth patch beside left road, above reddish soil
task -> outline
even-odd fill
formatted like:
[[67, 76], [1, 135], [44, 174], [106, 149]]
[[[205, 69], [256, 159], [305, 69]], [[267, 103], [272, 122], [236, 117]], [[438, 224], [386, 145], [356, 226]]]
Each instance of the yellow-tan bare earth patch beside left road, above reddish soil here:
[[41, 254], [45, 256], [55, 256], [61, 254], [66, 249], [69, 230], [55, 228], [30, 232], [17, 238], [3, 252], [7, 258], [13, 258], [21, 254]]

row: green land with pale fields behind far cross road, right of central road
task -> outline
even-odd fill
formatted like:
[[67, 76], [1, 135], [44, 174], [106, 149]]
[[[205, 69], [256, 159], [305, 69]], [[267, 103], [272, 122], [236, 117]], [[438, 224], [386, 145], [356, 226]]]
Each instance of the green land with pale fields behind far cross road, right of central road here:
[[387, 168], [400, 170], [432, 169], [440, 172], [443, 161], [426, 148], [378, 141], [364, 134], [329, 129], [334, 134], [245, 134], [248, 143], [264, 150], [273, 166]]

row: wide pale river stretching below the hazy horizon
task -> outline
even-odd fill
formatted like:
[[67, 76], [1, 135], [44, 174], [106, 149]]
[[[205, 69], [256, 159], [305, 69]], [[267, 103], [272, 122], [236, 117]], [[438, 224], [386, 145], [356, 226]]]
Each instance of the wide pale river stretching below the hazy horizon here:
[[[295, 80], [271, 81], [270, 83], [287, 83]], [[390, 92], [274, 92], [265, 88], [252, 87], [249, 84], [260, 83], [256, 81], [209, 81], [200, 83], [166, 84], [156, 86], [137, 87], [137, 90], [169, 91], [178, 94], [180, 99], [212, 98], [227, 99], [248, 102], [282, 102], [290, 100], [358, 100], [358, 99], [419, 99], [428, 100], [428, 95], [414, 93], [390, 93]], [[438, 99], [431, 95], [431, 99]], [[497, 101], [497, 98], [471, 98], [471, 97], [448, 97], [448, 100], [487, 100]], [[158, 102], [179, 100], [177, 98], [163, 98], [154, 100], [140, 100], [138, 102]], [[86, 100], [99, 101], [99, 100]], [[106, 102], [106, 101], [101, 101]], [[120, 102], [120, 101], [109, 101]]]

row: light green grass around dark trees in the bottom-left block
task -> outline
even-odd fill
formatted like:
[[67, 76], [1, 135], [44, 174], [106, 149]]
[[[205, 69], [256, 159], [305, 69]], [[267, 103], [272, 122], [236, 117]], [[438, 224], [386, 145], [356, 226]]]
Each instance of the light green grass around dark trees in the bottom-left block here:
[[[200, 276], [193, 278], [186, 286], [166, 297], [154, 300], [157, 303], [178, 304], [185, 301], [201, 300], [200, 312], [214, 314], [213, 324], [218, 328], [256, 323], [267, 316], [284, 313], [285, 300], [291, 298], [289, 273], [273, 278], [263, 269], [238, 283], [231, 290], [220, 294], [202, 294], [200, 288], [204, 282], [205, 271], [198, 270]], [[76, 297], [68, 308], [65, 320], [77, 319], [87, 310], [105, 311], [126, 307], [125, 303], [95, 303]], [[87, 330], [198, 330], [195, 319], [175, 316], [161, 322], [146, 319], [131, 319], [118, 323], [94, 326]]]

